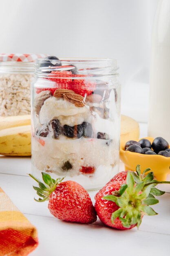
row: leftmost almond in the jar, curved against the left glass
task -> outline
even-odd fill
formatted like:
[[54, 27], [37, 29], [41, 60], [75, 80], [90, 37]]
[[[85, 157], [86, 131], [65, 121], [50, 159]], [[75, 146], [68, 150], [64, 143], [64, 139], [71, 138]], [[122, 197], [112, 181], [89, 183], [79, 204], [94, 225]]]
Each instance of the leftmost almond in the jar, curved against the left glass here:
[[52, 92], [49, 90], [46, 90], [46, 91], [40, 92], [37, 95], [37, 97], [35, 97], [34, 107], [35, 107], [35, 113], [37, 115], [39, 115], [40, 109], [41, 109], [42, 105], [44, 104], [44, 101], [46, 99], [49, 99], [49, 97], [51, 97], [51, 96], [52, 96]]

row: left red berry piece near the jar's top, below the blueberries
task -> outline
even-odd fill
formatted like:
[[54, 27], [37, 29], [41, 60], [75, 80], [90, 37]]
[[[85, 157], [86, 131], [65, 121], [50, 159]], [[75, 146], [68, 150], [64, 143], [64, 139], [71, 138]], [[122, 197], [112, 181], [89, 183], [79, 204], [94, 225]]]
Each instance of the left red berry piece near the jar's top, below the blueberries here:
[[[52, 71], [51, 76], [48, 77], [49, 80], [54, 81], [55, 85], [52, 88], [36, 88], [36, 93], [42, 91], [50, 90], [54, 94], [56, 89], [68, 89], [71, 90], [72, 76], [71, 71]], [[68, 77], [68, 78], [67, 78]]]

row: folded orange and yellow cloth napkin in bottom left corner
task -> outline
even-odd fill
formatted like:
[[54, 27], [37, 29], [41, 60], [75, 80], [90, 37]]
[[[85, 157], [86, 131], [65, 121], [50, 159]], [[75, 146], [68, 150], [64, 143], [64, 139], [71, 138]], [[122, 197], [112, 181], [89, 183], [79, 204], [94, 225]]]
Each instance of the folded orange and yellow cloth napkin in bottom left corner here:
[[0, 188], [0, 256], [26, 256], [37, 246], [36, 228]]

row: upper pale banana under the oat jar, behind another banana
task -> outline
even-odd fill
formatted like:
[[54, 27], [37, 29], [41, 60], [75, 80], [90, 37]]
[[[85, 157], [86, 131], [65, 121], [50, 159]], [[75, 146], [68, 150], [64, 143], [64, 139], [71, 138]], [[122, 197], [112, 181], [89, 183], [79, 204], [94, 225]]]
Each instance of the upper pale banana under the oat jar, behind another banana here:
[[0, 130], [31, 124], [31, 115], [0, 117]]

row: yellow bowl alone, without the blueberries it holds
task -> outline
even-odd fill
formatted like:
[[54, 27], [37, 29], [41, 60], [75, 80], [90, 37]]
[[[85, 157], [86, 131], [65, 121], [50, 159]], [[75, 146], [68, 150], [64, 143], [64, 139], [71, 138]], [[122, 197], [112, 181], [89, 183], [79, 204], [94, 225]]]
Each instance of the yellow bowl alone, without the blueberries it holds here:
[[[151, 143], [152, 137], [146, 137]], [[125, 170], [135, 171], [137, 164], [141, 166], [141, 172], [146, 168], [151, 168], [155, 177], [159, 181], [166, 180], [170, 173], [170, 157], [162, 155], [144, 155], [124, 150], [123, 144], [120, 145], [120, 159], [125, 165]]]

